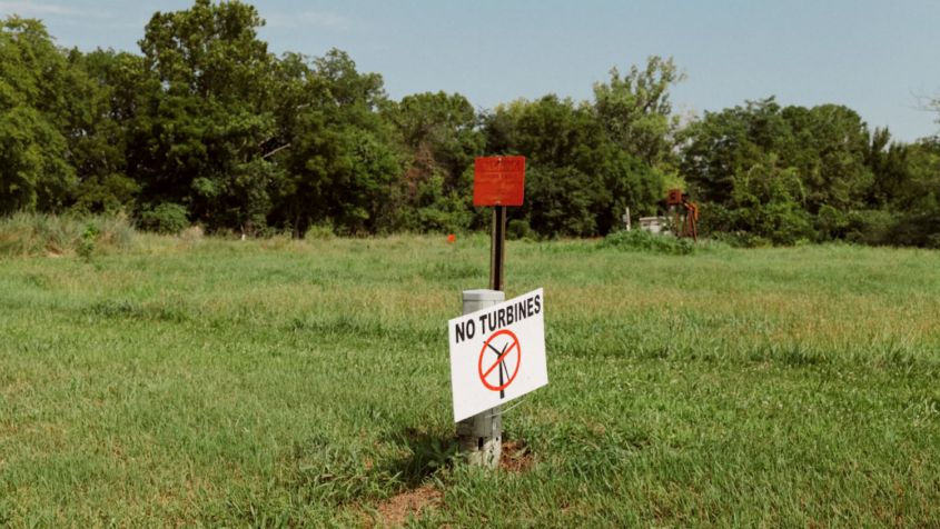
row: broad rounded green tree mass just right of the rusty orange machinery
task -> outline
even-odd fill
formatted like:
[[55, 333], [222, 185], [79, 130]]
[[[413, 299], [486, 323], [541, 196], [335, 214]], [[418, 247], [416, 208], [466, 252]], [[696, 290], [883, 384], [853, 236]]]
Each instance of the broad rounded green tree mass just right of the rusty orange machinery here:
[[891, 203], [907, 178], [903, 149], [885, 148], [888, 131], [869, 132], [842, 106], [749, 101], [705, 112], [687, 132], [682, 170], [711, 202], [704, 223], [775, 243], [844, 237], [850, 216]]

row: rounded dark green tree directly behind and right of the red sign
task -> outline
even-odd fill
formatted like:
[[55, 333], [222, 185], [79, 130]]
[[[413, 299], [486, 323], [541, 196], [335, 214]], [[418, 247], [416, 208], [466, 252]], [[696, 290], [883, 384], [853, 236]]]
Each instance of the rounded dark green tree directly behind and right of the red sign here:
[[509, 214], [542, 236], [607, 233], [625, 204], [655, 212], [661, 174], [611, 141], [586, 102], [515, 101], [488, 113], [484, 132], [489, 154], [526, 157], [526, 200]]

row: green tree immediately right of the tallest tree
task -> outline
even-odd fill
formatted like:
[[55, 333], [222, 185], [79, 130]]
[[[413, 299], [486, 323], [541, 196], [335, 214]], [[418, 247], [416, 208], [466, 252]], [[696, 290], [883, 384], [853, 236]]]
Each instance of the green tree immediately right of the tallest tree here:
[[295, 233], [327, 220], [339, 231], [379, 229], [400, 174], [393, 126], [379, 112], [388, 104], [382, 76], [359, 73], [338, 50], [314, 60], [287, 54], [279, 71], [274, 218]]

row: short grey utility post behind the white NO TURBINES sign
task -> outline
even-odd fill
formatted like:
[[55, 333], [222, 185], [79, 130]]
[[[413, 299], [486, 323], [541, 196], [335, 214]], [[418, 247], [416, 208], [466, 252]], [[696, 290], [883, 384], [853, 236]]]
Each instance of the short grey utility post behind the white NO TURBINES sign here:
[[[463, 315], [501, 303], [506, 293], [498, 290], [464, 290]], [[457, 440], [462, 452], [469, 452], [469, 462], [496, 468], [503, 450], [503, 407], [497, 406], [457, 422]]]

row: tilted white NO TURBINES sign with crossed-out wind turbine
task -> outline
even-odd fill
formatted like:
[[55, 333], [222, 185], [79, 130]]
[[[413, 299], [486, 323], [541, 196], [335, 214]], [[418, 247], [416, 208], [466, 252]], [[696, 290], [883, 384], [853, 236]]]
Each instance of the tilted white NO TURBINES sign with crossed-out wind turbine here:
[[548, 383], [542, 289], [447, 322], [454, 421]]

